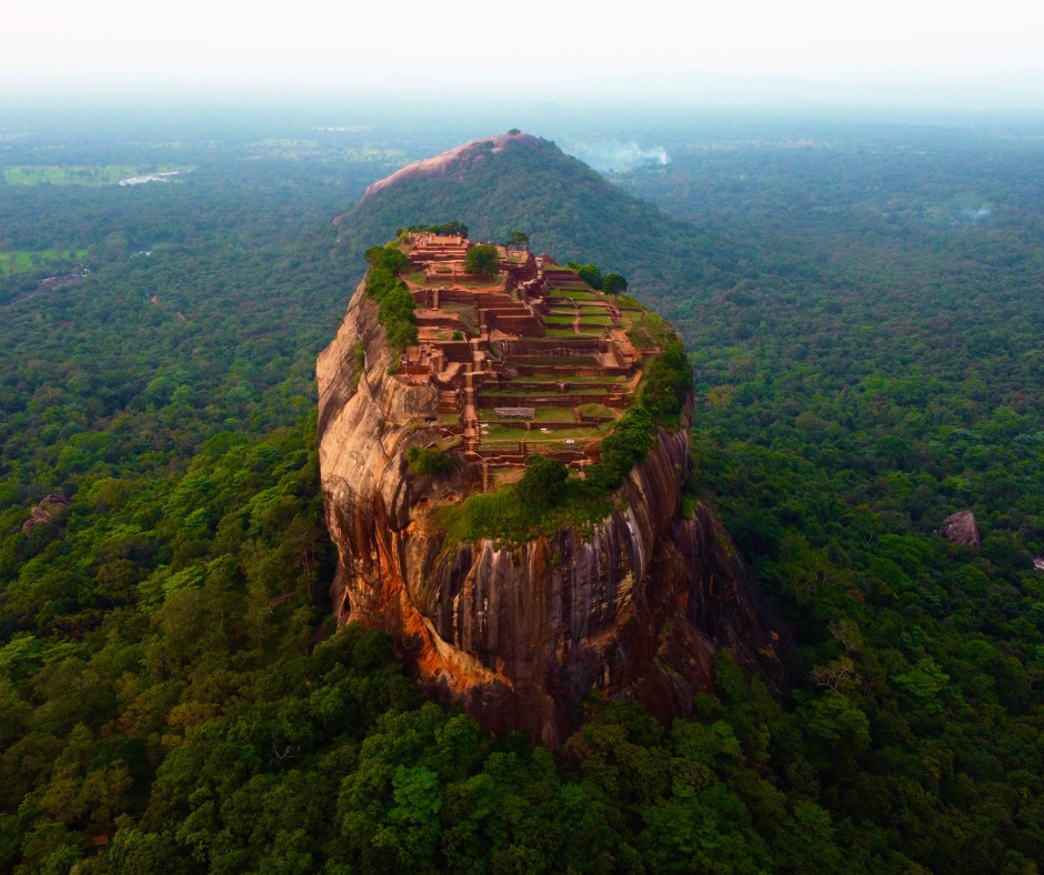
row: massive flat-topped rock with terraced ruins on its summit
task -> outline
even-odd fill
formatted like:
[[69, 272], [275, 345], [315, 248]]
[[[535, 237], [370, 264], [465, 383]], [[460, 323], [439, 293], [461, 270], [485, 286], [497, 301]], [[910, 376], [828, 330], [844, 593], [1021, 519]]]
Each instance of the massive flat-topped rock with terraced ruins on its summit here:
[[[662, 720], [690, 713], [722, 647], [785, 692], [789, 633], [686, 492], [689, 381], [672, 418], [646, 410], [663, 344], [680, 351], [673, 329], [546, 254], [486, 249], [489, 272], [469, 273], [473, 245], [400, 233], [379, 253], [395, 250], [395, 306], [412, 299], [408, 340], [389, 342], [391, 299], [368, 292], [371, 266], [319, 356], [339, 623], [388, 632], [432, 697], [551, 745], [591, 695], [640, 701]], [[632, 420], [644, 445], [609, 481], [606, 455], [619, 456]], [[414, 464], [424, 453], [440, 464]], [[564, 463], [569, 494], [594, 503], [499, 532], [485, 500], [515, 502], [534, 454]], [[446, 522], [469, 507], [472, 527]]]

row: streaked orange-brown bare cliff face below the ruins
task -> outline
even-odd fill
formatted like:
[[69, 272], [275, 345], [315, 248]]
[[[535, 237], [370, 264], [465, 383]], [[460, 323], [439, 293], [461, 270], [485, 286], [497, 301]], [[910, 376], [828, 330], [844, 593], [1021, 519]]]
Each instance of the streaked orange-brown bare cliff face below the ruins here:
[[687, 429], [661, 429], [620, 490], [625, 510], [586, 541], [562, 529], [513, 549], [446, 546], [431, 511], [460, 501], [474, 475], [409, 472], [406, 449], [434, 440], [439, 393], [390, 376], [393, 360], [360, 286], [317, 366], [340, 623], [391, 633], [431, 695], [551, 745], [576, 728], [592, 690], [664, 720], [686, 713], [713, 688], [719, 647], [785, 691], [782, 622], [710, 511], [680, 516]]

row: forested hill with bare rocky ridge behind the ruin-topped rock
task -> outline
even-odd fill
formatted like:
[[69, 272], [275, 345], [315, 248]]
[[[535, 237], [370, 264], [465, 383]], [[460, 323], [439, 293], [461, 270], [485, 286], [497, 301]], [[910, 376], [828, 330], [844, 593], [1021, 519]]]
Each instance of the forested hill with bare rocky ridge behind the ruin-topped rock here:
[[465, 143], [374, 183], [340, 217], [340, 230], [354, 258], [396, 228], [452, 220], [473, 240], [524, 231], [535, 251], [620, 271], [653, 302], [719, 273], [697, 228], [606, 182], [553, 142], [519, 132]]

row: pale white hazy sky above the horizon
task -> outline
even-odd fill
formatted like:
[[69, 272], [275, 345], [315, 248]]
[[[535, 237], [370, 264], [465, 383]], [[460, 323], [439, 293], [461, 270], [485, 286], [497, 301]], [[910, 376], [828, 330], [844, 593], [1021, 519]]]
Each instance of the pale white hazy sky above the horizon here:
[[780, 80], [841, 101], [867, 87], [988, 101], [994, 82], [1044, 95], [1044, 0], [32, 0], [0, 7], [0, 101], [448, 86], [699, 100]]

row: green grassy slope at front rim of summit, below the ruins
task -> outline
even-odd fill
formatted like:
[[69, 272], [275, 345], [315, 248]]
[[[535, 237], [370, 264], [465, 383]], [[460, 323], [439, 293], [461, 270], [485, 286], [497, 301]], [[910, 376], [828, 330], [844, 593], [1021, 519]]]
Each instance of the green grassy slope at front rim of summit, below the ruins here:
[[568, 480], [552, 507], [519, 501], [515, 489], [508, 486], [438, 507], [432, 512], [431, 524], [445, 532], [445, 546], [483, 539], [498, 546], [512, 546], [553, 535], [564, 526], [573, 526], [586, 540], [594, 526], [613, 512], [605, 491], [582, 480]]

